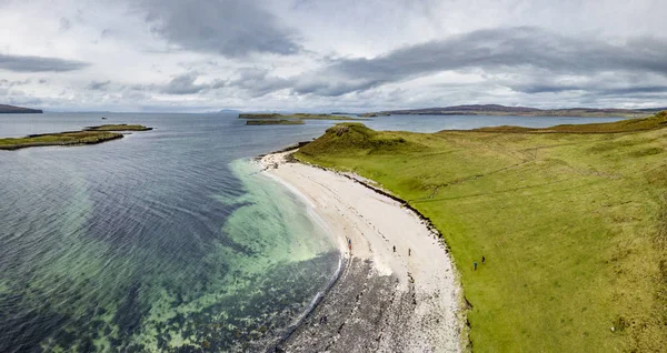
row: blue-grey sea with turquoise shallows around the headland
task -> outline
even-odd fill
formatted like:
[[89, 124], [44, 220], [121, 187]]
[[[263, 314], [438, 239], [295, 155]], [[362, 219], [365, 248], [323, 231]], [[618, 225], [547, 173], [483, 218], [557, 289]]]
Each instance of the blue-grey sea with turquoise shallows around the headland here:
[[[101, 120], [108, 117], [108, 120]], [[381, 117], [432, 132], [618, 119]], [[0, 352], [263, 351], [340, 265], [308, 206], [251, 158], [331, 121], [235, 114], [0, 114], [0, 138], [140, 123], [86, 147], [0, 151]]]

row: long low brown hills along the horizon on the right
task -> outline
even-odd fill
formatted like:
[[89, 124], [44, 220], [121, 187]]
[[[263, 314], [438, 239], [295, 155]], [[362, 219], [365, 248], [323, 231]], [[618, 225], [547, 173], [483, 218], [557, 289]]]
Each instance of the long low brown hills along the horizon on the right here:
[[524, 115], [524, 117], [623, 117], [641, 118], [667, 108], [651, 109], [597, 109], [597, 108], [568, 108], [568, 109], [538, 109], [529, 107], [506, 107], [499, 104], [469, 104], [444, 108], [424, 108], [407, 110], [388, 110], [366, 113], [366, 117], [380, 115]]

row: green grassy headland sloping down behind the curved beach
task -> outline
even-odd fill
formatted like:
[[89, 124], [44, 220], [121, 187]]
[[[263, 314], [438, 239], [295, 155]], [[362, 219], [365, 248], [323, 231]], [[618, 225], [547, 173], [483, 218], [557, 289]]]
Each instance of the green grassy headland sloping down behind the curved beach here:
[[[580, 128], [656, 129], [594, 134], [345, 124], [297, 158], [374, 179], [431, 218], [472, 305], [475, 351], [659, 351], [667, 346], [665, 121]], [[472, 271], [482, 254], [487, 263]]]

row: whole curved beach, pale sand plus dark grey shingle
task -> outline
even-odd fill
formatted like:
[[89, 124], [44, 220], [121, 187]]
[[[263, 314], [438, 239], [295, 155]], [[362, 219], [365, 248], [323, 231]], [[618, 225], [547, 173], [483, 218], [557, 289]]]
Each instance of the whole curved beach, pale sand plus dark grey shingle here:
[[258, 158], [262, 172], [306, 199], [342, 261], [311, 310], [271, 350], [464, 351], [462, 290], [430, 220], [365, 180], [292, 163], [293, 151]]

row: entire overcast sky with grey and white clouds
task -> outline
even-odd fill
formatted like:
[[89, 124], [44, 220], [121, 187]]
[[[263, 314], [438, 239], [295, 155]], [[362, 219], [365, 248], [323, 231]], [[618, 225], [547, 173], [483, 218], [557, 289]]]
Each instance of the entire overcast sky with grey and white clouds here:
[[667, 105], [665, 0], [0, 0], [0, 103]]

